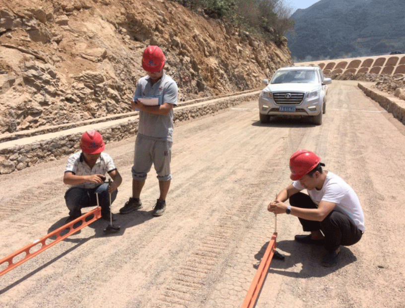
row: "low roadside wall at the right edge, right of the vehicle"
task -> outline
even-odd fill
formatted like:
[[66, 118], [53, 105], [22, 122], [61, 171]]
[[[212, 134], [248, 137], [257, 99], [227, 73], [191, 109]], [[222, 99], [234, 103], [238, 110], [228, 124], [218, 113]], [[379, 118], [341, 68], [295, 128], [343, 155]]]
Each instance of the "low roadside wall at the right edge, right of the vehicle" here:
[[379, 103], [384, 109], [405, 124], [405, 101], [377, 89], [370, 89], [361, 83], [357, 86], [372, 100]]

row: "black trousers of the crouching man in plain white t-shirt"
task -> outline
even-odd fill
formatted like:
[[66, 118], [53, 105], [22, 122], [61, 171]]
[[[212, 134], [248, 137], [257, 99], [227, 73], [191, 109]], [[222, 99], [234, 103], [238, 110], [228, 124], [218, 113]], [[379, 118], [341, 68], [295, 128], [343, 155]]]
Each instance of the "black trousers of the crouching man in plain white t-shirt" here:
[[[303, 193], [296, 193], [290, 198], [290, 205], [301, 208], [317, 208], [311, 198]], [[360, 241], [363, 232], [354, 221], [336, 207], [322, 221], [298, 218], [304, 231], [321, 230], [325, 236], [325, 248], [332, 252], [341, 246], [350, 246]]]

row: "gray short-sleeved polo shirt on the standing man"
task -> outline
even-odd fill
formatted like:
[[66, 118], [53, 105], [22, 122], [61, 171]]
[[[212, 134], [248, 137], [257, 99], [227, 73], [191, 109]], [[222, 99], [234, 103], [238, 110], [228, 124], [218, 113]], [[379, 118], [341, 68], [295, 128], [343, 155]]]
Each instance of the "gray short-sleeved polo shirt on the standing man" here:
[[[154, 85], [150, 77], [145, 76], [138, 80], [134, 96], [156, 96], [162, 103], [177, 104], [177, 84], [165, 72], [162, 78]], [[139, 111], [138, 134], [162, 141], [173, 141], [173, 109], [167, 115], [152, 114]]]

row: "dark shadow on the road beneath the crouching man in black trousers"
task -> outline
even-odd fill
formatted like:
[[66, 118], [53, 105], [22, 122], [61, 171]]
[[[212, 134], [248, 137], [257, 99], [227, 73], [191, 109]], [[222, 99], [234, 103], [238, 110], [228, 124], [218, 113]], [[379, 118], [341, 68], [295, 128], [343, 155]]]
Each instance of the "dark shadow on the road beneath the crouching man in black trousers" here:
[[[257, 260], [262, 259], [268, 245], [269, 242], [263, 245], [262, 249], [255, 255]], [[269, 273], [295, 278], [323, 277], [357, 260], [350, 249], [343, 246], [340, 247], [337, 265], [332, 267], [321, 265], [322, 258], [327, 254], [322, 246], [301, 244], [296, 241], [280, 241], [277, 242], [276, 250], [285, 256], [285, 260], [278, 260], [273, 257]], [[292, 267], [295, 270], [301, 267], [301, 270], [299, 272], [288, 271], [288, 268]]]

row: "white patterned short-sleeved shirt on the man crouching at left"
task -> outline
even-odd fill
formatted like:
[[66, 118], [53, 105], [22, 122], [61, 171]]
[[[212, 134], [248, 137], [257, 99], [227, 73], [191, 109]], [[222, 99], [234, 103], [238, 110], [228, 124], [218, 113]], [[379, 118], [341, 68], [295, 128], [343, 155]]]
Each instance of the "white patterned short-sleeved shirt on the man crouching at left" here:
[[[77, 152], [71, 154], [68, 158], [68, 163], [66, 164], [65, 172], [71, 172], [75, 175], [93, 175], [102, 174], [105, 176], [106, 172], [111, 172], [117, 168], [114, 165], [114, 161], [111, 156], [107, 153], [102, 152], [100, 157], [96, 160], [93, 168], [90, 169], [89, 165], [84, 161], [83, 153]], [[80, 188], [95, 188], [97, 183], [82, 183], [78, 185], [71, 185], [71, 187]]]

